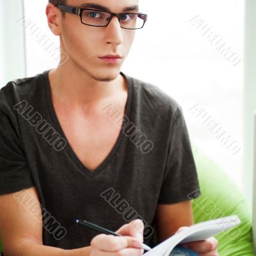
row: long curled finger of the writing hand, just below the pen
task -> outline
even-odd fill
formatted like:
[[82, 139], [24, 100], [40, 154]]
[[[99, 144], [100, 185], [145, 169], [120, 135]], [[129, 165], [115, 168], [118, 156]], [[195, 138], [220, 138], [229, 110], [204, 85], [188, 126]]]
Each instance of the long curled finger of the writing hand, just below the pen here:
[[116, 252], [127, 247], [141, 248], [138, 239], [129, 236], [113, 236], [100, 234], [93, 237], [90, 245], [100, 251]]

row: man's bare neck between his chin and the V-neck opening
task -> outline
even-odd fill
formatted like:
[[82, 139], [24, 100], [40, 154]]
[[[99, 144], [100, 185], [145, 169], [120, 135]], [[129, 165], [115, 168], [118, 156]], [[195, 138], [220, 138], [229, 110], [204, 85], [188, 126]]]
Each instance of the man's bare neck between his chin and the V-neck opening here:
[[49, 72], [52, 97], [72, 106], [93, 106], [126, 92], [125, 78], [118, 74], [115, 80], [97, 81], [79, 68], [58, 66]]

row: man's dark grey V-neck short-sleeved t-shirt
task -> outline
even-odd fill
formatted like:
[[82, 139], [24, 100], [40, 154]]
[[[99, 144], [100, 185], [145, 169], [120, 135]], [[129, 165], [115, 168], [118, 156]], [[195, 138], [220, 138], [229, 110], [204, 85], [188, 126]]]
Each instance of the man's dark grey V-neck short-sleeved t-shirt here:
[[0, 195], [24, 189], [15, 198], [37, 216], [26, 191], [35, 186], [48, 246], [89, 246], [98, 233], [76, 219], [115, 231], [136, 218], [143, 220], [144, 241], [152, 245], [157, 204], [189, 200], [199, 188], [179, 104], [153, 84], [120, 72], [128, 86], [125, 115], [112, 104], [102, 111], [122, 130], [91, 172], [61, 129], [48, 73], [11, 81], [0, 90]]

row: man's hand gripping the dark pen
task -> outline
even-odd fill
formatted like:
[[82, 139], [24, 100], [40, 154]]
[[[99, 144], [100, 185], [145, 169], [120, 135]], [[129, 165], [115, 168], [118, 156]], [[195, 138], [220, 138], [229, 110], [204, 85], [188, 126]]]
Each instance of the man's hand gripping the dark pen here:
[[100, 234], [93, 237], [90, 245], [90, 256], [139, 256], [144, 253], [143, 243], [144, 225], [141, 220], [134, 220], [119, 228], [116, 232], [123, 237]]

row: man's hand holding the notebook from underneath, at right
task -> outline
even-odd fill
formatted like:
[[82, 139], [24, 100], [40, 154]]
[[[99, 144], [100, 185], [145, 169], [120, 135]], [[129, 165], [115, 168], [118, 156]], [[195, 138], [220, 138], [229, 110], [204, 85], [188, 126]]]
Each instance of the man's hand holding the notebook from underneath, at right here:
[[[181, 227], [177, 232], [180, 232], [180, 230], [184, 229], [186, 227]], [[218, 256], [218, 240], [215, 237], [210, 237], [209, 239], [206, 239], [204, 241], [196, 241], [196, 242], [190, 242], [190, 243], [184, 243], [182, 246], [189, 248], [196, 253], [198, 253], [200, 256]]]

